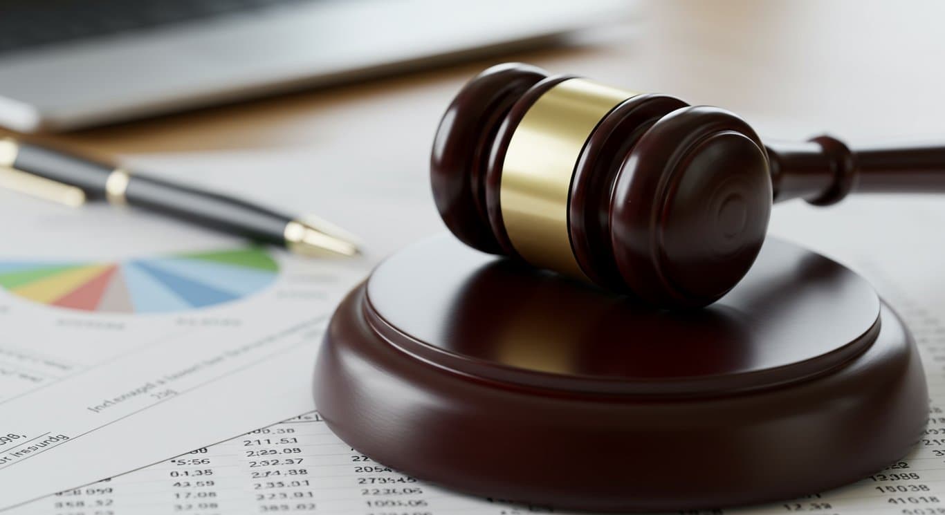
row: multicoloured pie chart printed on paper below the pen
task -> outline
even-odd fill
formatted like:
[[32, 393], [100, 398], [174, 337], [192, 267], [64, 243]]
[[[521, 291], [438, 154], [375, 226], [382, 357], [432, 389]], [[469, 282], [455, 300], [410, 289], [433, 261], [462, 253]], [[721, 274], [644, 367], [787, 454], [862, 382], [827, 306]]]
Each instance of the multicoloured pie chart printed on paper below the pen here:
[[0, 286], [61, 309], [168, 313], [232, 302], [265, 289], [279, 265], [248, 247], [112, 263], [0, 261]]

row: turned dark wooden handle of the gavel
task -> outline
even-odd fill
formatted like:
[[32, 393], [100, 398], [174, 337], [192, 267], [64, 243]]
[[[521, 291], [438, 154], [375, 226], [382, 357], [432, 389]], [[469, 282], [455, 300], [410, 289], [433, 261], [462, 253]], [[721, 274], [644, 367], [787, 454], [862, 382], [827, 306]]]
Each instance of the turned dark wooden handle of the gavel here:
[[766, 144], [774, 201], [825, 206], [851, 193], [945, 193], [945, 145], [851, 149], [831, 136]]

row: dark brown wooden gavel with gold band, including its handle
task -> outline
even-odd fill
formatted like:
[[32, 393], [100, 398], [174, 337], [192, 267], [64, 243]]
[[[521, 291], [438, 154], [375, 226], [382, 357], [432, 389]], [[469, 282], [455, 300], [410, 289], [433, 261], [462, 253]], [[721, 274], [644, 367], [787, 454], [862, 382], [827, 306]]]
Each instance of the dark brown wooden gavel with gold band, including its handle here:
[[773, 202], [945, 191], [945, 146], [764, 143], [739, 116], [666, 94], [499, 64], [466, 84], [431, 157], [457, 238], [658, 308], [720, 299]]

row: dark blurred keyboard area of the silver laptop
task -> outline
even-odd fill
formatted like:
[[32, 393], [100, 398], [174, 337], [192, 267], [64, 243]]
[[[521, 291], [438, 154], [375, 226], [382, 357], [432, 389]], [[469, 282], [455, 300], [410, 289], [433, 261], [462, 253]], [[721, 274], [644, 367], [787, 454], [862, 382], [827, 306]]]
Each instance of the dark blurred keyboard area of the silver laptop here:
[[0, 0], [0, 54], [324, 0]]

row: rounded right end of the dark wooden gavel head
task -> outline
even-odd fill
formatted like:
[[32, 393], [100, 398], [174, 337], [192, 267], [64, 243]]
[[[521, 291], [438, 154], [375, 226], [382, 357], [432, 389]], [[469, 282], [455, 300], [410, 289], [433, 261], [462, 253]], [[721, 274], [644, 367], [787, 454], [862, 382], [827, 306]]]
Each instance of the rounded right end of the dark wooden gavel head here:
[[741, 118], [685, 107], [647, 129], [610, 196], [614, 262], [627, 287], [663, 307], [698, 307], [738, 283], [765, 242], [765, 147]]

